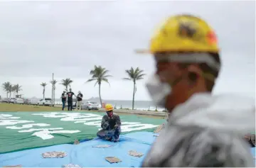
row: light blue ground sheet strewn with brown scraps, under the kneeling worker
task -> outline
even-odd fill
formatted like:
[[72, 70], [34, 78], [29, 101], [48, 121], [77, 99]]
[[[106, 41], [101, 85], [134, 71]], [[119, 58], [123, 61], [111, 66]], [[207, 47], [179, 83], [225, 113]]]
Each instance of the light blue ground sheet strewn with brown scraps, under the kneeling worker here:
[[[100, 139], [81, 142], [79, 145], [54, 145], [33, 150], [23, 150], [0, 155], [0, 167], [21, 164], [22, 167], [62, 167], [63, 164], [78, 164], [81, 167], [140, 167], [143, 157], [128, 155], [129, 150], [146, 154], [155, 138], [153, 133], [137, 132], [120, 136], [120, 142], [107, 142]], [[114, 145], [108, 148], [95, 145]], [[62, 151], [68, 156], [63, 158], [42, 158], [44, 152]], [[255, 157], [255, 147], [251, 150]], [[105, 157], [118, 157], [119, 163], [110, 164]]]

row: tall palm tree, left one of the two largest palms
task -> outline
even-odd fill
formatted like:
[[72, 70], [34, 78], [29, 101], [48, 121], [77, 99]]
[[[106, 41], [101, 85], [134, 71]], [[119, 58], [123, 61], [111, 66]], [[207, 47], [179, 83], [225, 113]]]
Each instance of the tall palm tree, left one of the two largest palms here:
[[[95, 82], [95, 86], [96, 84], [99, 84], [99, 96], [100, 96], [100, 86], [102, 84], [102, 82], [107, 82], [108, 84], [110, 84], [108, 82], [108, 77], [112, 77], [111, 75], [107, 75], [107, 73], [109, 72], [109, 70], [105, 69], [102, 66], [96, 66], [94, 67], [94, 69], [92, 69], [90, 71], [90, 75], [92, 75], [91, 79], [88, 79], [87, 82], [92, 82], [92, 81], [96, 81]], [[100, 96], [100, 105], [102, 105], [102, 99]]]

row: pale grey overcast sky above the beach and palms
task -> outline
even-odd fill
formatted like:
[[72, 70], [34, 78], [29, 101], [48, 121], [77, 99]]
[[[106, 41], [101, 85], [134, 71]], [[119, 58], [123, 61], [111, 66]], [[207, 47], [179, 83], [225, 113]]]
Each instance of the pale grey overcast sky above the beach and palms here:
[[[191, 13], [216, 30], [223, 68], [215, 94], [255, 96], [254, 1], [29, 1], [0, 2], [0, 82], [22, 85], [26, 97], [43, 97], [41, 82], [73, 79], [75, 94], [98, 96], [85, 84], [90, 69], [102, 65], [113, 75], [102, 84], [102, 99], [132, 99], [130, 67], [154, 72], [151, 55], [134, 49], [149, 46], [154, 28], [164, 18]], [[137, 84], [137, 100], [149, 100], [145, 80]], [[64, 87], [57, 84], [56, 97]], [[0, 95], [6, 93], [0, 89]], [[46, 97], [51, 96], [50, 84]]]

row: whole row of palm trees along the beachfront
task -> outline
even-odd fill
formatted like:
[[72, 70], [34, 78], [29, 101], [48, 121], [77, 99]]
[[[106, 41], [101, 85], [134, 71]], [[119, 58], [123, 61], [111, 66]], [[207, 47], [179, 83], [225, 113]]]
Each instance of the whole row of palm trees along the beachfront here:
[[[137, 81], [140, 79], [143, 79], [146, 74], [144, 74], [144, 71], [142, 69], [139, 69], [139, 67], [137, 68], [131, 67], [130, 69], [126, 69], [125, 72], [127, 74], [127, 77], [122, 79], [129, 80], [133, 83], [132, 109], [134, 109], [134, 99], [137, 91], [137, 86], [136, 86]], [[108, 78], [112, 77], [112, 75], [110, 75], [110, 71], [107, 70], [105, 67], [97, 66], [97, 65], [95, 65], [94, 69], [90, 70], [90, 75], [91, 75], [91, 78], [88, 79], [86, 82], [95, 82], [95, 86], [98, 85], [100, 104], [102, 105], [102, 98], [100, 94], [101, 85], [102, 85], [102, 82], [106, 82], [107, 84], [110, 84]], [[50, 81], [50, 84], [53, 86], [53, 99], [55, 99], [55, 88], [56, 88], [55, 86], [57, 83], [58, 81], [56, 80]], [[68, 87], [71, 88], [72, 83], [73, 83], [73, 80], [71, 80], [70, 78], [67, 78], [67, 79], [62, 79], [59, 84], [65, 86], [65, 90], [68, 91]], [[46, 86], [48, 85], [48, 83], [42, 82], [40, 85], [43, 86], [43, 99], [44, 99]], [[19, 86], [18, 84], [12, 85], [10, 82], [5, 82], [4, 84], [2, 84], [2, 86], [4, 91], [6, 91], [7, 98], [11, 97], [11, 92], [18, 94], [18, 91], [22, 90], [21, 86]]]

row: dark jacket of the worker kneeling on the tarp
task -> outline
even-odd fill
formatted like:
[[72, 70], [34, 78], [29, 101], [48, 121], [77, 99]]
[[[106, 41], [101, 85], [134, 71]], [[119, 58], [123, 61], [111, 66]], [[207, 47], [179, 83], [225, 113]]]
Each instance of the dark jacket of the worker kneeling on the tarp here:
[[107, 116], [107, 114], [103, 116], [101, 123], [101, 127], [103, 130], [112, 130], [114, 128], [114, 125], [121, 125], [120, 118], [116, 113], [113, 113], [112, 118]]

